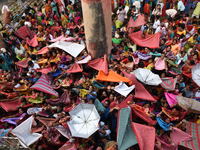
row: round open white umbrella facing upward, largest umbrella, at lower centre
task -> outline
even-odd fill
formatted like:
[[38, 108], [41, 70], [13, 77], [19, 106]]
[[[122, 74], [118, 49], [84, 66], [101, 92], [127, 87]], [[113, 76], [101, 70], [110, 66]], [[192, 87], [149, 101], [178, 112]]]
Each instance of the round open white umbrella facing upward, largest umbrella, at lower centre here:
[[79, 103], [69, 114], [72, 120], [67, 124], [72, 137], [88, 138], [99, 129], [100, 116], [95, 105]]

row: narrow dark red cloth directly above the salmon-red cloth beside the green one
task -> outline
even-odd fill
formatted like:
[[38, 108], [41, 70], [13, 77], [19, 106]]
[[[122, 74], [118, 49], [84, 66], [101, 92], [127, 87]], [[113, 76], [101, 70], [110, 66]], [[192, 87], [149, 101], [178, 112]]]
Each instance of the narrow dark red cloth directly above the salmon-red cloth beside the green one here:
[[135, 114], [136, 116], [140, 117], [141, 119], [143, 119], [144, 121], [146, 121], [147, 123], [149, 123], [150, 125], [155, 125], [157, 123], [157, 121], [153, 121], [143, 110], [143, 107], [139, 106], [139, 105], [133, 105], [132, 107], [133, 110], [133, 114]]

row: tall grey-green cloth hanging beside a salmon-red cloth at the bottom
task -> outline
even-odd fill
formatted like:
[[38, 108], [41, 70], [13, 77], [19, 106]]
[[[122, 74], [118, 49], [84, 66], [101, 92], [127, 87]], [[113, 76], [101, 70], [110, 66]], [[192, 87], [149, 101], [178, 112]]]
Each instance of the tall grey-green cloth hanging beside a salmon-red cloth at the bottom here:
[[137, 144], [137, 138], [131, 128], [130, 115], [131, 110], [129, 107], [122, 108], [119, 116], [119, 127], [117, 144], [119, 150], [126, 150], [129, 147]]

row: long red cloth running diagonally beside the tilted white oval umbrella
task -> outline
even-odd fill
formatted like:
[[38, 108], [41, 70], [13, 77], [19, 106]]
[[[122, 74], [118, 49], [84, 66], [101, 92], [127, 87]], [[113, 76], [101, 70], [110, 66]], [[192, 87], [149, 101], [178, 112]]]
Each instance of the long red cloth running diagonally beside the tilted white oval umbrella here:
[[121, 71], [127, 78], [129, 78], [133, 82], [133, 85], [135, 85], [135, 98], [148, 100], [152, 102], [156, 101], [153, 98], [153, 96], [146, 90], [146, 88], [140, 82], [137, 81], [134, 74], [128, 74], [124, 70]]

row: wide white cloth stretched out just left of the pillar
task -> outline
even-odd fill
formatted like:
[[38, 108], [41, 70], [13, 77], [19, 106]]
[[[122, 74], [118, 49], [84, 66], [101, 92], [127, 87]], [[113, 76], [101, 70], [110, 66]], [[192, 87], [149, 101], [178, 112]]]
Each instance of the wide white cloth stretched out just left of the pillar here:
[[57, 41], [47, 47], [57, 47], [60, 48], [73, 57], [77, 57], [82, 50], [85, 49], [85, 46], [77, 44], [77, 43], [71, 43], [71, 42], [64, 42], [64, 41]]

